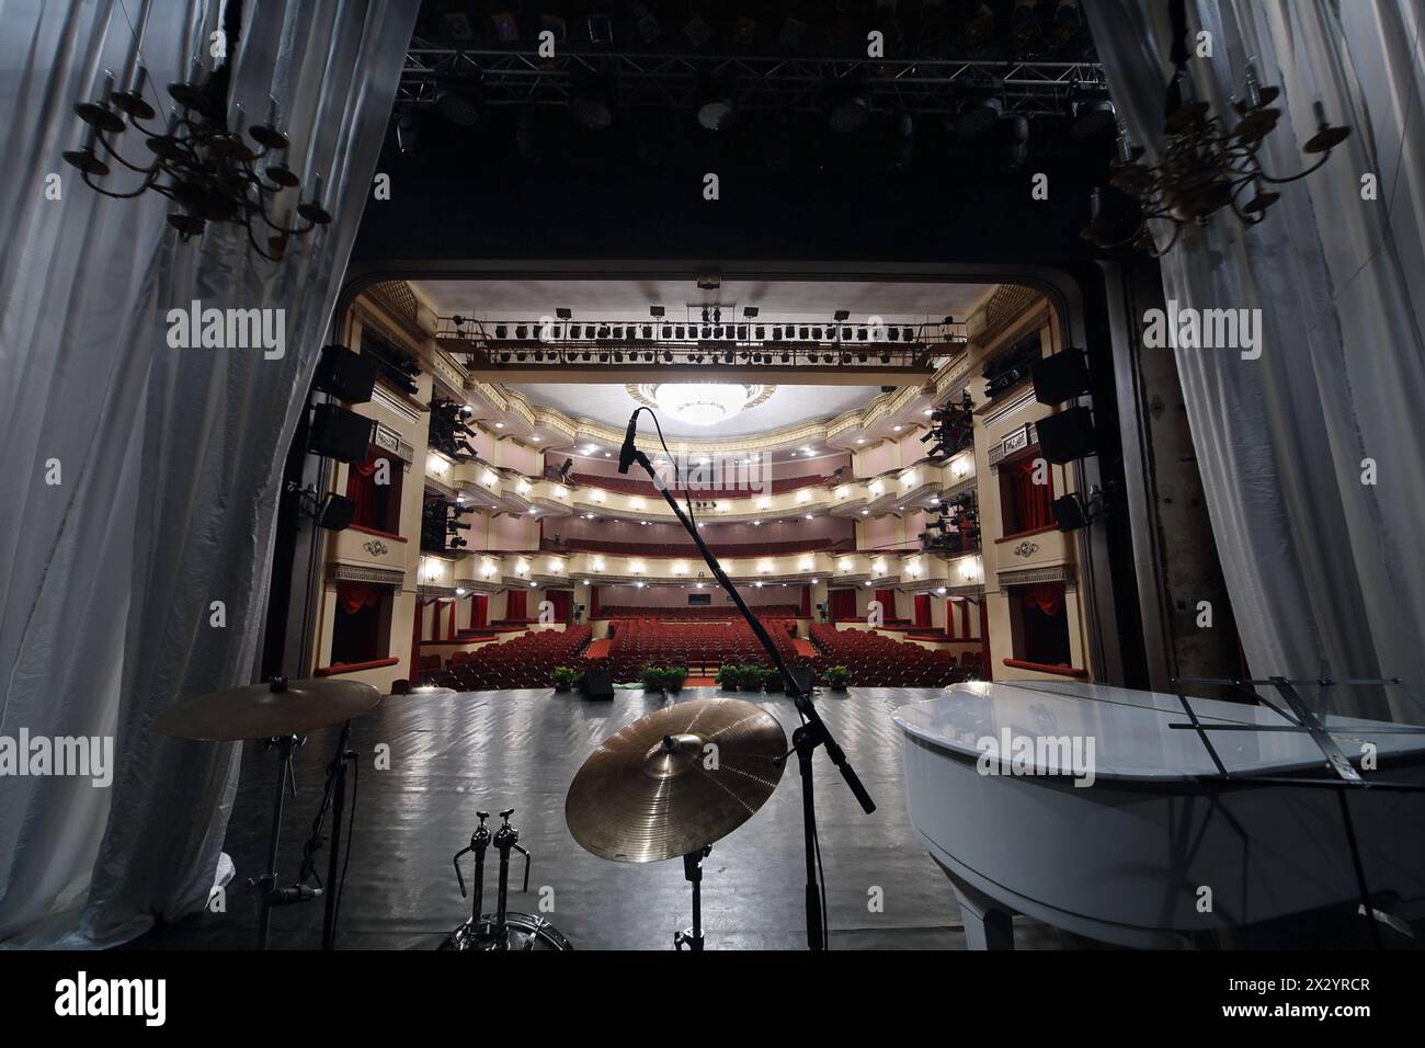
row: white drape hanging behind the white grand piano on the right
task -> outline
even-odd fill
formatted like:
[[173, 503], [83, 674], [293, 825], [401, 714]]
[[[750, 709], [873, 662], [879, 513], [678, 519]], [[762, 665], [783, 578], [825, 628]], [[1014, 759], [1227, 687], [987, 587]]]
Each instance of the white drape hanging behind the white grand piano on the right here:
[[[1168, 4], [1084, 6], [1114, 106], [1149, 148], [1163, 133]], [[1200, 97], [1228, 114], [1255, 58], [1282, 120], [1263, 163], [1311, 158], [1312, 103], [1351, 137], [1280, 188], [1267, 220], [1218, 214], [1163, 260], [1167, 299], [1260, 309], [1260, 359], [1176, 351], [1213, 530], [1253, 673], [1402, 677], [1425, 697], [1425, 60], [1419, 0], [1194, 0], [1211, 57]], [[1340, 9], [1340, 10], [1338, 10]], [[1374, 175], [1377, 198], [1362, 198]], [[1369, 180], [1367, 180], [1367, 184]], [[1368, 194], [1367, 194], [1368, 195]], [[1167, 349], [1143, 352], [1168, 352]], [[1367, 462], [1369, 461], [1369, 462]], [[1367, 481], [1374, 463], [1375, 483]], [[1361, 713], [1419, 717], [1398, 692]]]

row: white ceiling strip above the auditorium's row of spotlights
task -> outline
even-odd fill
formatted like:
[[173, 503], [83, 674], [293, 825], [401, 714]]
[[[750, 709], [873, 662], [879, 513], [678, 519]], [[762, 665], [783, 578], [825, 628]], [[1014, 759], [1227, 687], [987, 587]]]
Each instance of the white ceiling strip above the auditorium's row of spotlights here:
[[722, 305], [722, 321], [740, 321], [742, 307], [758, 307], [758, 321], [828, 321], [848, 309], [851, 321], [878, 315], [888, 322], [963, 321], [988, 295], [989, 284], [876, 284], [869, 281], [735, 281], [703, 291], [691, 279], [644, 281], [413, 281], [442, 317], [539, 319], [564, 307], [574, 319], [637, 321], [650, 305], [661, 305], [673, 322], [697, 319], [690, 309]]

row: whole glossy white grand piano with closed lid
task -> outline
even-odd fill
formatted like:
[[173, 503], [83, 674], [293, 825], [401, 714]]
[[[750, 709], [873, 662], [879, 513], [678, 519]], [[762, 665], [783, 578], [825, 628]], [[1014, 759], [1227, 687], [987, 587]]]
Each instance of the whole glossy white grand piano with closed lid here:
[[[1261, 706], [1191, 706], [1204, 724], [1290, 723]], [[1425, 781], [1425, 736], [1322, 721], [1355, 766], [1375, 747], [1368, 781]], [[895, 723], [911, 823], [955, 887], [970, 948], [1012, 948], [1013, 914], [1119, 945], [1191, 947], [1359, 904], [1342, 793], [1372, 910], [1425, 938], [1425, 794], [1224, 781], [1197, 731], [1168, 727], [1188, 723], [1177, 696], [1102, 684], [969, 682]], [[1006, 730], [1025, 743], [982, 759], [980, 740], [1003, 750]], [[1082, 756], [1092, 739], [1093, 783], [1074, 786], [1067, 750], [1035, 746], [1045, 739], [1079, 739]], [[1301, 731], [1210, 739], [1233, 776], [1330, 777]]]

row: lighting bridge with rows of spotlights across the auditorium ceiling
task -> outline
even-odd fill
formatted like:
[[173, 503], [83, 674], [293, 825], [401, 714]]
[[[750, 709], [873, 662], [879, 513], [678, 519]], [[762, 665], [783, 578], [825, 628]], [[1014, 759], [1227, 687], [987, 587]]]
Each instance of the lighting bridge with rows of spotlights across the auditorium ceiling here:
[[436, 342], [482, 369], [721, 364], [926, 372], [963, 354], [969, 339], [965, 325], [955, 321], [878, 325], [767, 324], [752, 318], [731, 324], [667, 318], [550, 322], [549, 318], [477, 321], [455, 315], [437, 318]]

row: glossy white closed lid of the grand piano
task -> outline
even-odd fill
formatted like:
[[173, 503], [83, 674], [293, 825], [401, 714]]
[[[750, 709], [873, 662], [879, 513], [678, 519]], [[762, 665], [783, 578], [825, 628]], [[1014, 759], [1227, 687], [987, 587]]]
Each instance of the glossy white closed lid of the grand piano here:
[[[1285, 724], [1265, 706], [1193, 699], [1193, 710], [1204, 724]], [[1381, 757], [1425, 754], [1425, 734], [1371, 734], [1384, 721], [1327, 716], [1322, 721], [1337, 734], [1341, 750], [1358, 761], [1364, 743], [1374, 743]], [[1009, 739], [1035, 743], [1036, 774], [1053, 774], [1046, 756], [1053, 750], [1039, 740], [1067, 737], [1086, 746], [1093, 739], [1094, 774], [1100, 779], [1143, 779], [1153, 781], [1216, 776], [1217, 767], [1191, 729], [1176, 694], [1134, 692], [1109, 684], [1080, 682], [966, 682], [928, 702], [911, 703], [895, 711], [895, 723], [908, 736], [935, 749], [965, 757], [980, 756], [979, 741], [990, 737], [1005, 751]], [[1304, 731], [1213, 731], [1213, 746], [1228, 771], [1268, 774], [1325, 767], [1325, 757]], [[1006, 753], [1006, 759], [1013, 751]]]

